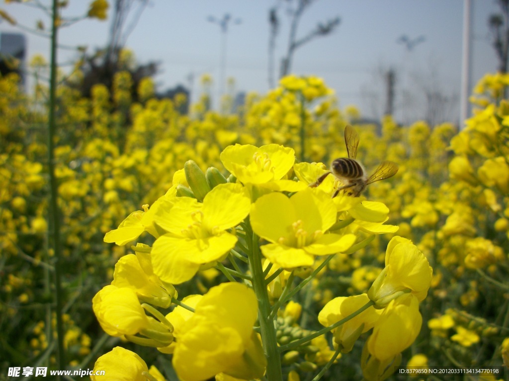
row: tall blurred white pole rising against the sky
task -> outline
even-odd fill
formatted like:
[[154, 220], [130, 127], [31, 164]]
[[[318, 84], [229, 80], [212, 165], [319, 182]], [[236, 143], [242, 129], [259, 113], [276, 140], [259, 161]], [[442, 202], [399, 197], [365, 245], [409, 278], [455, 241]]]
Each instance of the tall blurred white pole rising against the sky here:
[[470, 94], [470, 63], [471, 63], [471, 0], [463, 0], [463, 57], [461, 65], [461, 99], [460, 99], [460, 130], [469, 116], [468, 96]]

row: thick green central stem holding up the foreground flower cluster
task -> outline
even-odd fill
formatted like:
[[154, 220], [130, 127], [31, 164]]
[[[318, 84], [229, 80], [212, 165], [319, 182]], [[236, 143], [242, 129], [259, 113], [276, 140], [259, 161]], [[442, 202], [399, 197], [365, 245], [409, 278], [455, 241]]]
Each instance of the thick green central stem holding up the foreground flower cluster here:
[[[249, 217], [248, 217], [249, 218]], [[249, 269], [253, 278], [253, 290], [258, 299], [258, 320], [262, 336], [263, 350], [267, 358], [266, 378], [268, 381], [281, 381], [281, 358], [277, 350], [276, 329], [270, 315], [270, 301], [265, 279], [263, 276], [262, 255], [260, 252], [259, 238], [252, 233], [249, 220], [246, 221], [246, 244]]]

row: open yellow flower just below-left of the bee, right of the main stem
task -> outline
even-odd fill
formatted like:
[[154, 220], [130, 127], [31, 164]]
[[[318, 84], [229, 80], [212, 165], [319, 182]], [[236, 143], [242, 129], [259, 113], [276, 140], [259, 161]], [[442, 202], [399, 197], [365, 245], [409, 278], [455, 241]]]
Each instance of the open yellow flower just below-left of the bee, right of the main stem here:
[[263, 255], [283, 268], [312, 266], [315, 256], [345, 251], [353, 234], [326, 234], [336, 222], [336, 209], [323, 192], [305, 189], [291, 198], [281, 193], [260, 197], [251, 207], [253, 231], [271, 242]]

